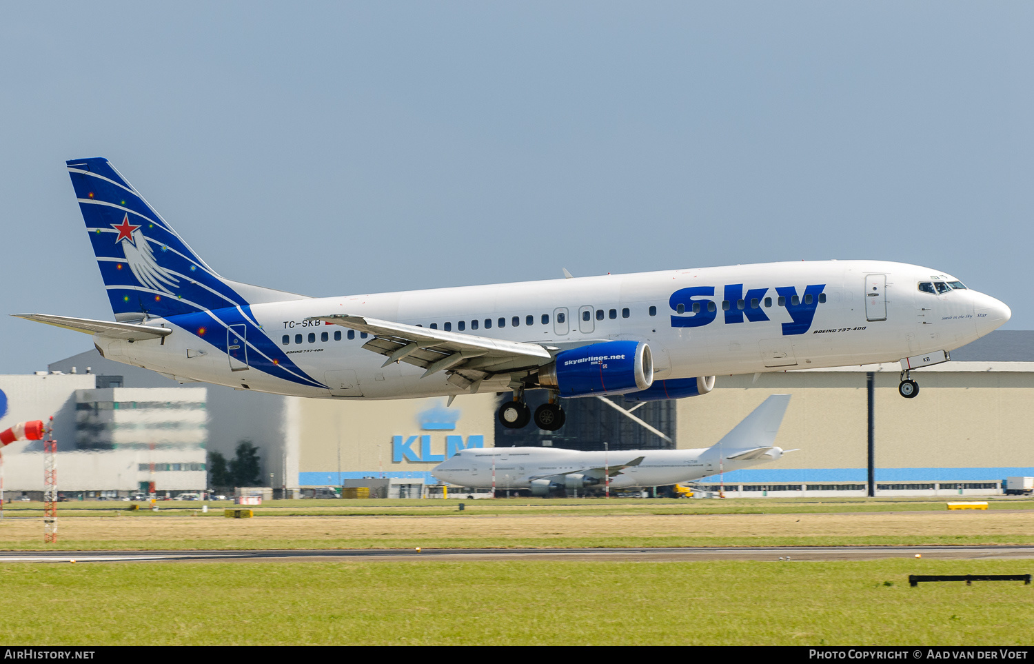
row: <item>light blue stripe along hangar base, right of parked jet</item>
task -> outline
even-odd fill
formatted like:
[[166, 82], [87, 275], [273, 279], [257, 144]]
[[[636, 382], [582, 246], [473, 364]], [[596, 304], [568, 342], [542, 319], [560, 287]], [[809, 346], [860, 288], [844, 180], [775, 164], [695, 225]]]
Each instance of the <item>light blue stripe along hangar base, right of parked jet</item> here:
[[[1010, 476], [1034, 476], [1034, 467], [876, 469], [877, 482], [994, 482]], [[865, 469], [744, 469], [725, 474], [726, 482], [862, 482]], [[717, 481], [718, 476], [706, 478]]]

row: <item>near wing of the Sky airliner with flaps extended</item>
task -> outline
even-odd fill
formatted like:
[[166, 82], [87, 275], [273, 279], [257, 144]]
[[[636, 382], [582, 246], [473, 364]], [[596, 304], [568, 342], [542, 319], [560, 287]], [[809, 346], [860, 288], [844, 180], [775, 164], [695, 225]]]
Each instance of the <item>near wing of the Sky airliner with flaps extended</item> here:
[[363, 348], [387, 356], [383, 366], [405, 362], [426, 369], [421, 378], [449, 371], [450, 383], [472, 392], [477, 391], [481, 381], [493, 373], [534, 369], [547, 364], [553, 357], [550, 350], [557, 350], [538, 343], [489, 339], [362, 315], [335, 313], [306, 320], [366, 332], [373, 338]]

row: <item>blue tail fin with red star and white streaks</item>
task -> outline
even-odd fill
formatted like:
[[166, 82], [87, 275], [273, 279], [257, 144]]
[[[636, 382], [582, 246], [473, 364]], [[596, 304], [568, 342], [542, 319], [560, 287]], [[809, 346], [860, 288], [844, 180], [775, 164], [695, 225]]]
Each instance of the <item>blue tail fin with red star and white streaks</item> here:
[[66, 163], [116, 321], [302, 297], [220, 277], [108, 159]]

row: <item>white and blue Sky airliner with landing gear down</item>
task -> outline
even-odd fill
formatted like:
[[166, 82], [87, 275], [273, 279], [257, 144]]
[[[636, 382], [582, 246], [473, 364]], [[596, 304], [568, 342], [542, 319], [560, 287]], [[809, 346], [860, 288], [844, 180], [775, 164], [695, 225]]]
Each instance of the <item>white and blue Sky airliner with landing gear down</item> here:
[[914, 397], [911, 369], [1011, 314], [940, 270], [880, 261], [310, 298], [219, 276], [107, 159], [67, 165], [116, 322], [18, 315], [179, 382], [342, 399], [512, 391], [512, 428], [533, 419], [525, 390], [545, 389], [534, 419], [555, 430], [557, 397], [689, 397], [722, 374], [900, 360]]

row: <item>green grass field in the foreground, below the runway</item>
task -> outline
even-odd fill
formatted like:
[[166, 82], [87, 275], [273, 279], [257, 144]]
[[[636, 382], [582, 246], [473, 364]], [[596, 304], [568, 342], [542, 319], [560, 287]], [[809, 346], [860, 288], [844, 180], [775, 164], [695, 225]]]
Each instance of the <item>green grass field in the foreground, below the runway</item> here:
[[1027, 561], [12, 564], [19, 644], [1029, 645]]

